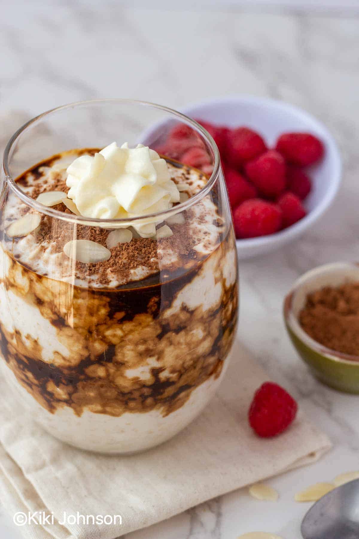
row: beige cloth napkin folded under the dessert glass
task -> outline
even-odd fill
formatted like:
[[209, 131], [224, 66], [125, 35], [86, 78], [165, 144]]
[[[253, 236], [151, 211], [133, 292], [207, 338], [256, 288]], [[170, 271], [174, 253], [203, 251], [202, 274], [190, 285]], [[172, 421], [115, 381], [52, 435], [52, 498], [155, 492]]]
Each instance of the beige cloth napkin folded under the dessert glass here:
[[[76, 450], [45, 433], [13, 403], [0, 382], [0, 489], [11, 515], [54, 513], [44, 527], [26, 524], [26, 537], [112, 539], [150, 526], [244, 485], [309, 464], [329, 450], [327, 436], [302, 413], [273, 439], [258, 438], [247, 410], [268, 379], [236, 342], [221, 388], [205, 412], [167, 443], [131, 457]], [[60, 525], [64, 512], [121, 515], [122, 524]], [[108, 519], [109, 520], [109, 519]]]

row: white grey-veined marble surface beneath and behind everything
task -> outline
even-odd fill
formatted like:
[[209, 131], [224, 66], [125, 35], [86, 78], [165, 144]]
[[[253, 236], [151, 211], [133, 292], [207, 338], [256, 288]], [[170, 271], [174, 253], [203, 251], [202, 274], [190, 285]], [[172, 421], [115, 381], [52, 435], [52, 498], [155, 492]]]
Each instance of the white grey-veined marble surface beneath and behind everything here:
[[[359, 468], [359, 397], [329, 390], [308, 374], [281, 318], [283, 296], [298, 275], [323, 262], [359, 259], [359, 21], [234, 8], [226, 13], [72, 4], [15, 1], [2, 9], [2, 143], [30, 116], [70, 101], [132, 96], [180, 107], [238, 92], [306, 108], [340, 144], [343, 185], [330, 212], [298, 243], [240, 264], [243, 341], [329, 434], [334, 450], [318, 464], [271, 480], [278, 503], [234, 492], [126, 536], [235, 539], [259, 529], [298, 539], [308, 506], [295, 503], [294, 492]], [[0, 536], [19, 537], [9, 516], [1, 515]]]

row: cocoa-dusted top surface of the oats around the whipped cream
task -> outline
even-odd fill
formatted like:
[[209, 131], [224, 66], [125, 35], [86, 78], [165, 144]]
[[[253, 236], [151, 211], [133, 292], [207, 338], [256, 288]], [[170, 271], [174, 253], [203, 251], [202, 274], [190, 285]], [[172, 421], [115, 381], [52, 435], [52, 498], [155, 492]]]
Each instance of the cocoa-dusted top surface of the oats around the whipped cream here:
[[[66, 167], [79, 155], [94, 152], [94, 149], [71, 150], [55, 155], [24, 172], [17, 183], [32, 198], [47, 191], [67, 193]], [[173, 181], [188, 196], [193, 196], [207, 182], [207, 177], [196, 169], [171, 160], [167, 160], [167, 165]], [[146, 284], [151, 284], [184, 274], [215, 250], [228, 231], [228, 223], [223, 224], [219, 216], [217, 200], [217, 186], [214, 186], [202, 201], [166, 221], [173, 236], [159, 240], [133, 238], [129, 243], [112, 247], [110, 259], [97, 264], [76, 262], [74, 265], [63, 247], [74, 238], [90, 239], [106, 246], [108, 230], [76, 226], [47, 216], [25, 237], [10, 239], [5, 233], [5, 247], [25, 267], [52, 279], [89, 288], [143, 286], [146, 278], [149, 278]], [[71, 213], [63, 203], [54, 208]], [[29, 211], [32, 210], [11, 195], [6, 205], [5, 232], [13, 220]]]

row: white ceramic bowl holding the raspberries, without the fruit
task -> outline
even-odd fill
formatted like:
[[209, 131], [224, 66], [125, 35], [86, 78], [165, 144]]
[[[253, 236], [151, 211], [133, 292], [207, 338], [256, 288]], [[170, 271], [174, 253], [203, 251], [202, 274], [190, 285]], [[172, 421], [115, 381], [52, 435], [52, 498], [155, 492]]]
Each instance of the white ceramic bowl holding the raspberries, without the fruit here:
[[313, 189], [304, 203], [308, 211], [306, 217], [271, 236], [237, 240], [238, 258], [265, 254], [290, 243], [312, 226], [333, 202], [341, 179], [339, 150], [327, 128], [304, 110], [274, 99], [238, 95], [202, 101], [182, 108], [181, 112], [219, 125], [251, 127], [264, 137], [269, 147], [281, 133], [291, 131], [313, 133], [325, 144], [323, 160], [307, 168]]

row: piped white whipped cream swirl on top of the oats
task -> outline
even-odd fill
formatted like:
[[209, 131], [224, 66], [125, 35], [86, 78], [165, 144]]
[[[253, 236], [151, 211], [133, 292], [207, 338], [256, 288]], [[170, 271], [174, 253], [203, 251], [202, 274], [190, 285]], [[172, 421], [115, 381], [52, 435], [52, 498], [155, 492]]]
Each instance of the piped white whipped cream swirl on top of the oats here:
[[[125, 142], [119, 148], [112, 142], [93, 157], [76, 158], [67, 173], [67, 196], [84, 217], [131, 219], [168, 210], [180, 201], [166, 161], [143, 144], [129, 148]], [[156, 234], [156, 223], [131, 224], [148, 238]]]

